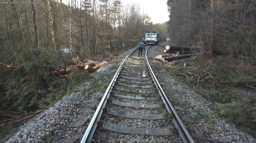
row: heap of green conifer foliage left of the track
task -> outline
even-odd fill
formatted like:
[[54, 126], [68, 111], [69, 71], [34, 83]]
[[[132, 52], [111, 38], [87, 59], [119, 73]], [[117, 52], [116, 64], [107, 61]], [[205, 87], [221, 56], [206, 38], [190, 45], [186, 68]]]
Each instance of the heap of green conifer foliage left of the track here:
[[[48, 107], [64, 95], [74, 92], [91, 75], [84, 71], [71, 72], [67, 77], [52, 75], [52, 66], [69, 66], [71, 63], [46, 49], [30, 49], [13, 44], [4, 48], [0, 58], [4, 59], [3, 63], [13, 62], [13, 66], [22, 66], [3, 81], [5, 90], [0, 93], [0, 110], [31, 112]], [[3, 68], [0, 67], [0, 71]], [[1, 79], [8, 74], [8, 71], [2, 72]]]

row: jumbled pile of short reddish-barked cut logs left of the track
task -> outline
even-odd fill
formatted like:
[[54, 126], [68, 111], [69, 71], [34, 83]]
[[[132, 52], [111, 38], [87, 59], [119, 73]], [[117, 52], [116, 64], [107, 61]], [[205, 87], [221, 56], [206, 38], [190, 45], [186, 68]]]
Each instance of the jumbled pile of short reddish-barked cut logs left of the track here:
[[[112, 60], [113, 58], [116, 57], [117, 54], [111, 55], [109, 52], [106, 51], [105, 53], [106, 55], [109, 54], [110, 57], [106, 58], [105, 61], [101, 62], [104, 58], [104, 54], [101, 58], [99, 58], [99, 60], [92, 61], [89, 59], [84, 59], [84, 62], [79, 61], [78, 59], [72, 58], [70, 60], [70, 62], [74, 63], [75, 65], [69, 66], [69, 67], [65, 67], [64, 69], [62, 68], [57, 68], [55, 71], [52, 72], [52, 74], [54, 75], [59, 75], [62, 76], [63, 74], [69, 73], [72, 70], [75, 70], [77, 68], [81, 68], [81, 69], [85, 69], [88, 70], [89, 72], [95, 72], [96, 69], [99, 69], [101, 67], [104, 67], [108, 64], [108, 62], [110, 60]], [[66, 75], [65, 75], [66, 76]]]

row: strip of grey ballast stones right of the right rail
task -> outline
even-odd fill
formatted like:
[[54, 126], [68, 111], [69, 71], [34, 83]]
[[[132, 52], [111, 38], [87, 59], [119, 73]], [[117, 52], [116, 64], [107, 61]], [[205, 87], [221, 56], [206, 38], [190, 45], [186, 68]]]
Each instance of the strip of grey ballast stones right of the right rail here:
[[[164, 50], [164, 47], [164, 43], [160, 43], [158, 46], [152, 47], [148, 53], [152, 57], [155, 57], [159, 54], [163, 54], [161, 53], [161, 50]], [[155, 62], [158, 61], [150, 61], [151, 64]], [[161, 67], [161, 70], [156, 70], [153, 67], [152, 69], [158, 80], [163, 82], [161, 85], [162, 88], [165, 85], [168, 85], [165, 87], [165, 93], [169, 95], [169, 97], [178, 100], [178, 106], [185, 109], [185, 111], [178, 112], [178, 114], [182, 114], [189, 119], [193, 119], [195, 122], [193, 125], [190, 125], [184, 121], [184, 124], [187, 126], [187, 128], [190, 129], [191, 132], [202, 133], [207, 137], [207, 140], [203, 142], [209, 142], [210, 139], [212, 139], [214, 142], [255, 142], [255, 139], [252, 135], [240, 131], [235, 126], [229, 125], [226, 123], [224, 118], [219, 118], [218, 114], [214, 110], [214, 103], [195, 93], [193, 89], [188, 87], [182, 81], [176, 80], [174, 77], [166, 75], [164, 66]], [[197, 115], [196, 110], [202, 110], [209, 114], [213, 123], [205, 122], [204, 118], [192, 118], [193, 115]]]

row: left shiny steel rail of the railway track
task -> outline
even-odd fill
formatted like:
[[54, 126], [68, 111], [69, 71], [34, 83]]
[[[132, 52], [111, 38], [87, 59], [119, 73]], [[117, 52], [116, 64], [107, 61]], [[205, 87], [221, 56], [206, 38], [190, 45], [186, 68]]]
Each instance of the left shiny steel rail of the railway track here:
[[81, 140], [80, 143], [89, 143], [91, 140], [92, 140], [92, 137], [93, 137], [93, 134], [95, 132], [95, 129], [97, 127], [97, 123], [99, 121], [99, 119], [101, 118], [101, 114], [103, 112], [103, 108], [105, 107], [106, 103], [107, 103], [107, 100], [108, 100], [108, 97], [110, 95], [110, 92], [112, 91], [112, 88], [113, 88], [113, 85], [115, 84], [115, 81], [119, 75], [119, 73], [121, 72], [121, 69], [123, 68], [124, 66], [124, 63], [126, 61], [126, 59], [131, 55], [133, 54], [137, 49], [133, 50], [129, 55], [126, 56], [126, 58], [124, 59], [124, 61], [121, 63], [121, 65], [119, 66], [119, 68], [117, 69], [113, 79], [111, 80], [111, 82], [109, 83], [109, 86], [106, 90], [106, 92], [104, 93], [97, 109], [95, 110], [95, 113], [91, 119], [91, 122], [89, 123], [86, 131], [85, 131], [85, 134]]

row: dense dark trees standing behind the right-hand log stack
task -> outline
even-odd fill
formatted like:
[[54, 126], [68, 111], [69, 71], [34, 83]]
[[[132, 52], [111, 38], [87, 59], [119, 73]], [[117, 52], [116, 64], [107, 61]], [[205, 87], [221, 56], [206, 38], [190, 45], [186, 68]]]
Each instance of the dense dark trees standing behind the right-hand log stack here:
[[256, 1], [168, 0], [167, 4], [172, 43], [256, 63]]

